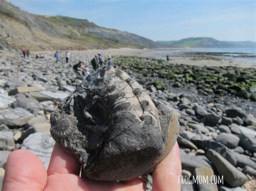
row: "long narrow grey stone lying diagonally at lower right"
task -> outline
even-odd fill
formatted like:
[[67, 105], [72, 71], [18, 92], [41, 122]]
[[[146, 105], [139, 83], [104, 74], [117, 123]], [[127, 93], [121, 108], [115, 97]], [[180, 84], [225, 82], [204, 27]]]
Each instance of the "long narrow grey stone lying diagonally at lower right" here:
[[206, 153], [220, 175], [223, 175], [225, 182], [232, 187], [243, 185], [247, 181], [245, 174], [235, 168], [230, 162], [214, 150], [210, 149]]

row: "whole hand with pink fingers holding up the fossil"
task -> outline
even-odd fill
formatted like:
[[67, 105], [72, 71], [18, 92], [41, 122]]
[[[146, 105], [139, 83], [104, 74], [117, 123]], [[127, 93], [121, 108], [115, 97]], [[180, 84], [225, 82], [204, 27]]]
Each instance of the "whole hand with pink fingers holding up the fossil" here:
[[[145, 190], [139, 178], [114, 182], [79, 177], [80, 162], [55, 144], [48, 171], [42, 161], [26, 150], [12, 152], [6, 162], [3, 190]], [[167, 157], [153, 171], [152, 190], [180, 190], [179, 146], [176, 143]]]

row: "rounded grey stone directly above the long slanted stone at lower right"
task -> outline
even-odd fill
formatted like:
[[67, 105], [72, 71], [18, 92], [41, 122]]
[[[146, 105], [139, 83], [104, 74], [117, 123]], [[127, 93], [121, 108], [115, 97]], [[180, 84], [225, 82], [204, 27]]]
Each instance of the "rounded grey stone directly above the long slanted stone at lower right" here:
[[238, 146], [240, 139], [230, 133], [220, 133], [215, 140], [224, 144], [228, 148], [235, 148]]

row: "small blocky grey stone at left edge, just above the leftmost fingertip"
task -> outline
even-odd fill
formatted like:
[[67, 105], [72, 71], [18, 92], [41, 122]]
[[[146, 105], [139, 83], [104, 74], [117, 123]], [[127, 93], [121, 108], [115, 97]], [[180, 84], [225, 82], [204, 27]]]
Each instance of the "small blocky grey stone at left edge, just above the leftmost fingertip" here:
[[14, 133], [11, 131], [0, 131], [0, 150], [14, 148]]

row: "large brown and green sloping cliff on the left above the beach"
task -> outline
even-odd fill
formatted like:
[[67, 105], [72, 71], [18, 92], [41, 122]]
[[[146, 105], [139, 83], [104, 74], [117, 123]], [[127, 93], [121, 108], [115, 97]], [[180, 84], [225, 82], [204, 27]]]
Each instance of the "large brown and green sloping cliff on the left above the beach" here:
[[12, 48], [41, 50], [159, 46], [153, 40], [100, 27], [86, 19], [33, 15], [6, 0], [0, 0], [0, 29], [0, 45]]

